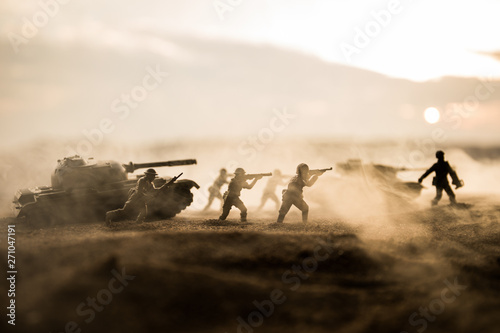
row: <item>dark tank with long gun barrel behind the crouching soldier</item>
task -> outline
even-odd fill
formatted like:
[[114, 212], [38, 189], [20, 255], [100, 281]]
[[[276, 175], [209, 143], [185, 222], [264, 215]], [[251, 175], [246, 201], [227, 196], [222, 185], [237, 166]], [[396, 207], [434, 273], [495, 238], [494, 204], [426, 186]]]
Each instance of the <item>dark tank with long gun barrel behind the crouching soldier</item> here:
[[[193, 165], [196, 160], [121, 164], [95, 161], [75, 155], [57, 161], [51, 186], [18, 190], [14, 197], [14, 214], [28, 222], [45, 224], [89, 219], [104, 220], [108, 210], [123, 207], [137, 179], [129, 179], [135, 170], [163, 166]], [[160, 187], [171, 178], [156, 178]], [[193, 202], [193, 180], [180, 179], [148, 202], [148, 219], [170, 218]]]

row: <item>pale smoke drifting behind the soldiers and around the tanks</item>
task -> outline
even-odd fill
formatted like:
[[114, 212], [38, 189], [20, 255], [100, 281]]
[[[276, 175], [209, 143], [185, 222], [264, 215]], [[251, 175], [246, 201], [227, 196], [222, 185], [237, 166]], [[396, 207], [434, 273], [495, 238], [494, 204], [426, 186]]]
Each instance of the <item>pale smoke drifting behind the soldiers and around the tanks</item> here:
[[[362, 174], [359, 177], [346, 177], [336, 170], [337, 163], [348, 159], [361, 159], [365, 165], [370, 163], [401, 167], [401, 160], [408, 152], [399, 143], [354, 144], [352, 142], [299, 141], [277, 138], [266, 145], [255, 145], [252, 150], [241, 149], [244, 140], [157, 142], [148, 145], [123, 145], [103, 143], [94, 149], [98, 160], [116, 160], [121, 163], [152, 162], [175, 159], [196, 158], [197, 165], [173, 168], [159, 168], [160, 176], [173, 176], [183, 172], [183, 178], [193, 179], [200, 186], [194, 191], [194, 203], [189, 211], [201, 210], [207, 202], [208, 187], [213, 183], [220, 168], [233, 172], [243, 167], [248, 173], [273, 172], [281, 170], [285, 177], [295, 174], [299, 163], [307, 163], [311, 169], [333, 167], [319, 177], [311, 188], [304, 189], [304, 198], [310, 206], [311, 217], [328, 215], [351, 221], [354, 224], [373, 224], [370, 217], [415, 210], [428, 205], [427, 198], [434, 195], [431, 186], [432, 176], [423, 183], [422, 197], [407, 200], [394, 195], [393, 188], [386, 183]], [[50, 175], [57, 160], [67, 156], [68, 142], [43, 141], [17, 147], [15, 150], [1, 152], [0, 177], [3, 186], [0, 190], [1, 214], [8, 215], [10, 203], [17, 189], [40, 185], [50, 185]], [[457, 197], [463, 194], [498, 194], [500, 188], [500, 159], [475, 160], [461, 148], [446, 150], [446, 159], [465, 181], [465, 187], [456, 191]], [[431, 155], [417, 167], [422, 170], [399, 172], [401, 181], [415, 182], [426, 169], [435, 162]], [[142, 170], [136, 171], [141, 174]], [[132, 176], [133, 177], [133, 176]], [[256, 216], [255, 208], [260, 204], [266, 178], [258, 181], [252, 190], [243, 190], [242, 200], [249, 208], [250, 215]], [[277, 195], [281, 198], [278, 187]], [[224, 191], [225, 188], [222, 189]], [[426, 198], [423, 200], [422, 198]], [[443, 198], [446, 200], [446, 198]], [[213, 204], [219, 208], [219, 203]], [[274, 211], [275, 205], [268, 202], [265, 210]], [[291, 214], [294, 214], [292, 208]], [[218, 212], [212, 212], [213, 217]], [[211, 213], [207, 213], [210, 215]], [[207, 216], [210, 218], [210, 216]]]

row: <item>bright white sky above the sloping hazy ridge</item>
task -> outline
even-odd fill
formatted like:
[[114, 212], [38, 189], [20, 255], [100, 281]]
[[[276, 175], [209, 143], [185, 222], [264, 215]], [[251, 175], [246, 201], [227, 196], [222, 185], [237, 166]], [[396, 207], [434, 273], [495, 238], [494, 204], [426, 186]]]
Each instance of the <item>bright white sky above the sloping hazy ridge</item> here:
[[[2, 1], [3, 37], [19, 32], [22, 18], [32, 18], [39, 2]], [[38, 38], [67, 41], [85, 34], [108, 43], [117, 42], [116, 30], [156, 29], [269, 43], [413, 80], [500, 76], [498, 62], [475, 53], [500, 49], [500, 39], [495, 38], [500, 31], [496, 0], [64, 2], [68, 3], [60, 5]], [[360, 37], [363, 33], [368, 38]]]

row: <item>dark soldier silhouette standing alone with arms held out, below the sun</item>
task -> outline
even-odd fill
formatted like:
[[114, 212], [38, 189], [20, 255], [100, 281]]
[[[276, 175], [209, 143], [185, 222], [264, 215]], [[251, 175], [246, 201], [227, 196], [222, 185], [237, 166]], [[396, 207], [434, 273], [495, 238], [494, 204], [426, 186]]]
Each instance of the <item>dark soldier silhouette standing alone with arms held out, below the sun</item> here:
[[432, 179], [432, 185], [436, 186], [436, 197], [431, 201], [432, 205], [435, 206], [438, 204], [439, 200], [441, 200], [443, 196], [443, 190], [446, 191], [448, 197], [450, 198], [450, 204], [456, 205], [457, 201], [455, 199], [455, 193], [450, 187], [448, 183], [448, 174], [451, 176], [453, 185], [455, 185], [455, 189], [458, 189], [463, 186], [463, 181], [458, 179], [456, 172], [451, 168], [448, 161], [444, 160], [444, 152], [442, 150], [438, 150], [436, 152], [436, 158], [438, 159], [437, 163], [434, 163], [429, 170], [427, 170], [419, 179], [418, 182], [422, 183], [422, 181], [432, 172], [436, 173], [436, 176]]

